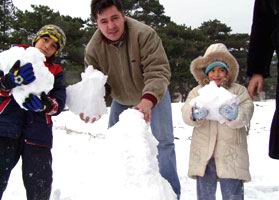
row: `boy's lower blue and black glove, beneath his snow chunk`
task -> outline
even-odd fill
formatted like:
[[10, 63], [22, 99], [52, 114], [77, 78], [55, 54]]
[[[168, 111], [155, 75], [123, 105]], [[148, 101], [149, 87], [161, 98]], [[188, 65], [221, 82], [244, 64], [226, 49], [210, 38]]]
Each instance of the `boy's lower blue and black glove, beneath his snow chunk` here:
[[25, 99], [23, 106], [33, 112], [48, 112], [51, 110], [52, 102], [47, 97], [45, 92], [42, 92], [41, 99], [33, 94], [30, 94], [28, 98]]

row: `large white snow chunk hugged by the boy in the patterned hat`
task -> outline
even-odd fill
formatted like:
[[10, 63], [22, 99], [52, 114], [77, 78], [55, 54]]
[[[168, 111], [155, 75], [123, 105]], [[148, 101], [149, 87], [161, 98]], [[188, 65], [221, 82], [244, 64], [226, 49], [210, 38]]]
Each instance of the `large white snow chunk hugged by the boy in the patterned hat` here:
[[[33, 66], [35, 81], [28, 85], [20, 85], [12, 89], [12, 94], [16, 102], [23, 107], [23, 102], [29, 94], [40, 96], [42, 92], [48, 93], [54, 84], [54, 76], [45, 66], [45, 55], [35, 47], [12, 47], [0, 53], [0, 69], [4, 74], [9, 73], [14, 63], [20, 60], [20, 65], [31, 63]], [[24, 108], [25, 109], [25, 108]]]

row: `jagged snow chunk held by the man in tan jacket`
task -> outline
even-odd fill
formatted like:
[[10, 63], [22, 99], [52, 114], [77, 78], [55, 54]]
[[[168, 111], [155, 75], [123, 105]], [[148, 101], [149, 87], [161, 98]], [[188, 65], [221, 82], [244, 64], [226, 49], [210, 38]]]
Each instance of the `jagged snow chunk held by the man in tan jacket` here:
[[104, 99], [107, 76], [89, 65], [81, 79], [66, 88], [66, 104], [77, 115], [84, 113], [90, 118], [100, 118], [107, 111]]

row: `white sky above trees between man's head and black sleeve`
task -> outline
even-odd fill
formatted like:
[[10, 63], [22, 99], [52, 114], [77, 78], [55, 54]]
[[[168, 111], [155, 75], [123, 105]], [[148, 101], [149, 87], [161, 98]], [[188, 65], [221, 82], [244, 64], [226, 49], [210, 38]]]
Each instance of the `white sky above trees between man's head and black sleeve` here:
[[172, 21], [192, 28], [218, 19], [234, 33], [250, 33], [254, 1], [249, 0], [160, 0]]

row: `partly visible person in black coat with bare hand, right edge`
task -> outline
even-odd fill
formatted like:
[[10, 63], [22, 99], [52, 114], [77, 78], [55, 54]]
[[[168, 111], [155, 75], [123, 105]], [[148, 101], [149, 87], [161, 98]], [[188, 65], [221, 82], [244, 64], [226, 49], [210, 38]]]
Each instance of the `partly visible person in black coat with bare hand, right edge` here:
[[[274, 51], [276, 51], [277, 57], [279, 56], [278, 12], [278, 0], [255, 0], [247, 70], [247, 75], [251, 77], [248, 85], [248, 92], [251, 97], [254, 97], [263, 90], [264, 78], [270, 75], [269, 68]], [[279, 70], [279, 64], [277, 64], [277, 69]], [[276, 109], [270, 130], [269, 156], [274, 159], [279, 159], [278, 74], [276, 91]]]

